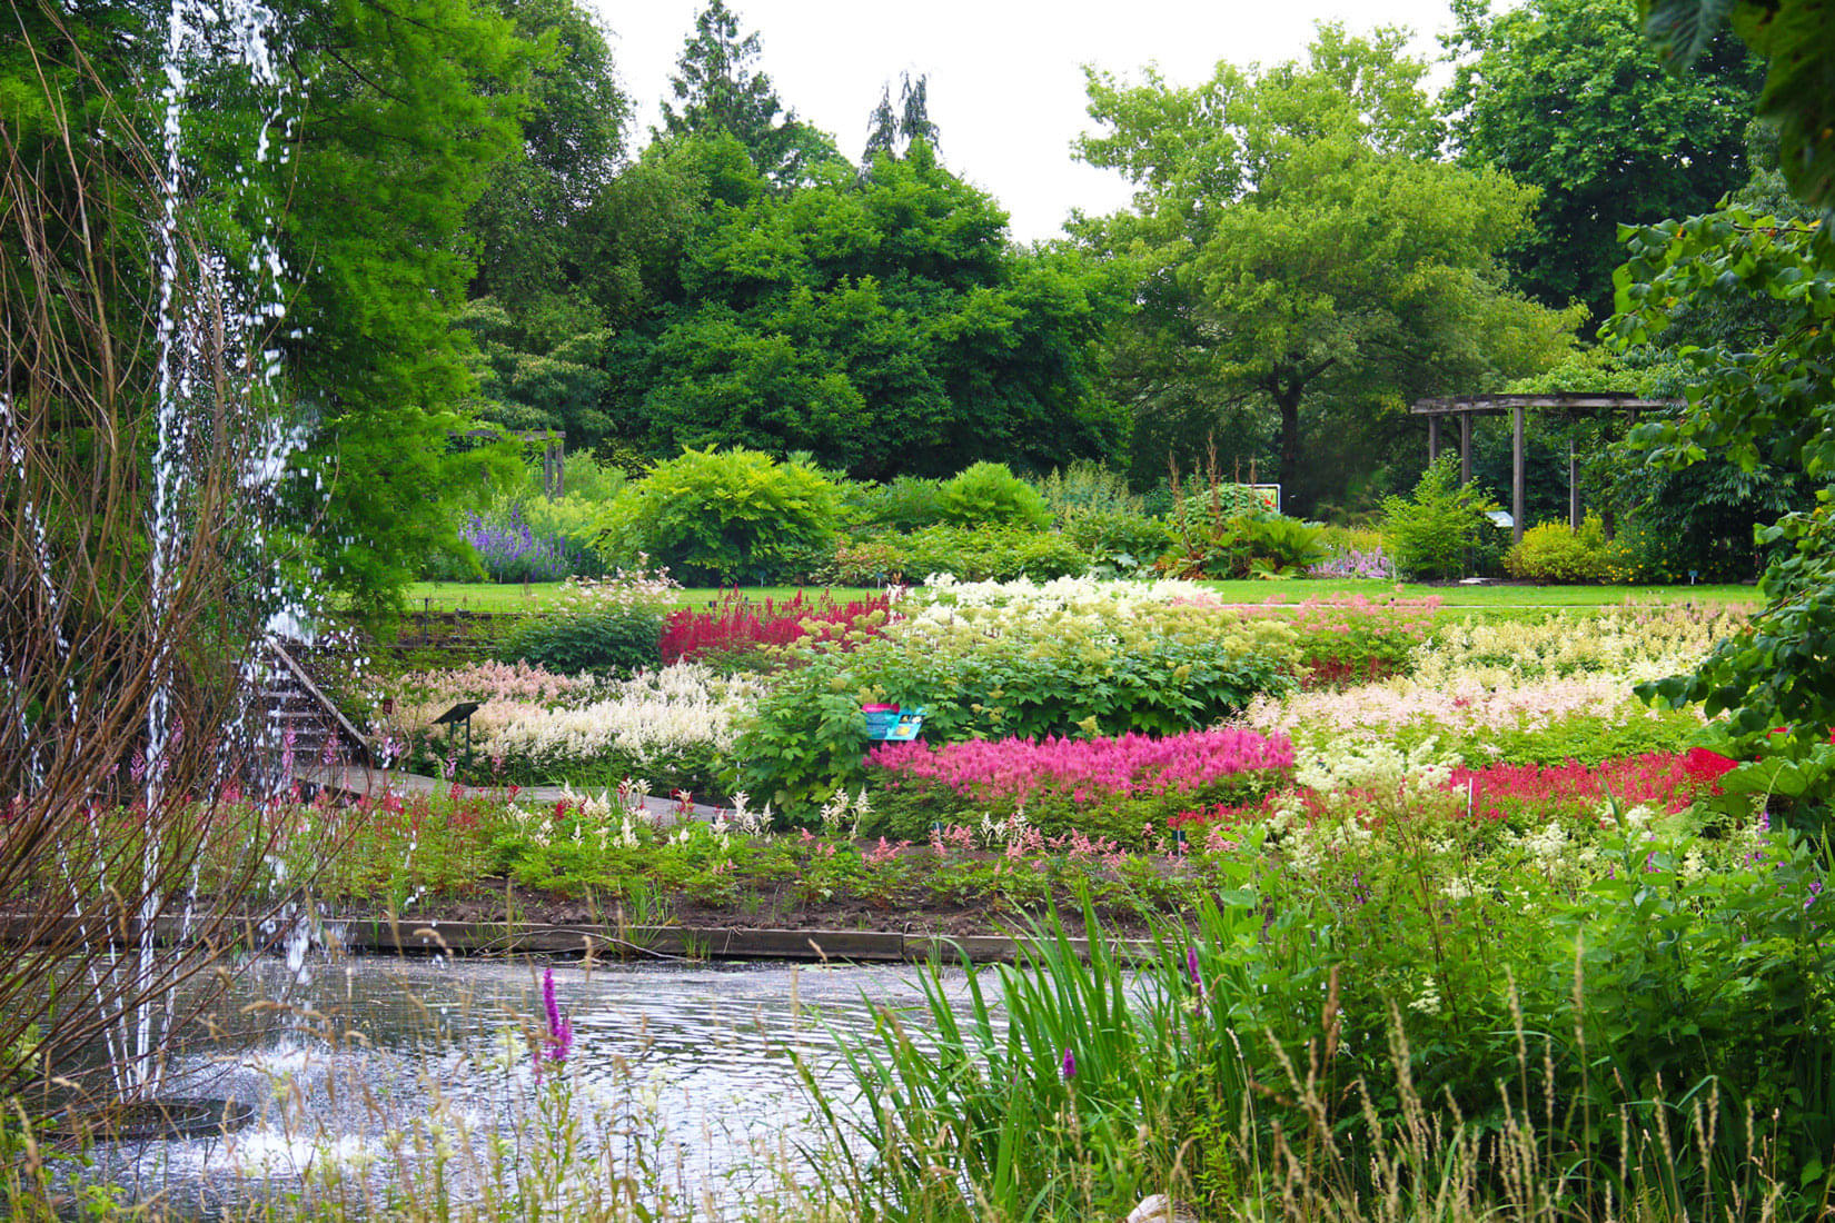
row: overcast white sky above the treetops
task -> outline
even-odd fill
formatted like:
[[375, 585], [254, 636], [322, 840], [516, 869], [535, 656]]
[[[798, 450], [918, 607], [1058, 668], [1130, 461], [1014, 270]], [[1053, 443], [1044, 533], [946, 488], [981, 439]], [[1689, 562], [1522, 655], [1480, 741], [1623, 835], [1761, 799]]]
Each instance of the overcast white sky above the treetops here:
[[[587, 0], [613, 35], [618, 73], [637, 105], [633, 147], [657, 106], [701, 0]], [[866, 117], [899, 72], [930, 77], [930, 119], [943, 161], [989, 191], [1022, 242], [1061, 233], [1073, 207], [1127, 205], [1121, 176], [1070, 156], [1088, 130], [1083, 64], [1132, 73], [1158, 62], [1180, 84], [1220, 59], [1273, 64], [1305, 53], [1314, 22], [1352, 29], [1407, 26], [1418, 53], [1439, 55], [1446, 0], [728, 0], [756, 29], [760, 68], [798, 116], [835, 136], [850, 158]]]

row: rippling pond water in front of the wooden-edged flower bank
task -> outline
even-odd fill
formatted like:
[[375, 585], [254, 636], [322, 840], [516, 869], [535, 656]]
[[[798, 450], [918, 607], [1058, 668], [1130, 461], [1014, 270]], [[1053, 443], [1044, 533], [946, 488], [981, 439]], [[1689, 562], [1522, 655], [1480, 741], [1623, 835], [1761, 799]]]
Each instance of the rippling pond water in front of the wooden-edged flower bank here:
[[[853, 1102], [840, 1051], [872, 1036], [875, 1008], [919, 1040], [929, 1023], [906, 966], [552, 970], [574, 1040], [565, 1067], [538, 1074], [541, 966], [343, 957], [292, 983], [261, 961], [172, 1041], [163, 1091], [237, 1100], [255, 1120], [101, 1144], [83, 1181], [198, 1217], [301, 1190], [380, 1214], [435, 1181], [503, 1199], [527, 1177], [706, 1210], [793, 1172], [817, 1139], [795, 1054]], [[965, 994], [960, 972], [945, 983]]]

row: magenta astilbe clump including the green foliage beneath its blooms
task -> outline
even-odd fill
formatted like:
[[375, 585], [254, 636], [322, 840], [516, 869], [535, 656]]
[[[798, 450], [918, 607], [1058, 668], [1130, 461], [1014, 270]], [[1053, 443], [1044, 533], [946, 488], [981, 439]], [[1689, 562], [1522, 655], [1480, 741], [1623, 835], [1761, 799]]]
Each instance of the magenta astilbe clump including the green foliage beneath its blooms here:
[[1042, 741], [886, 743], [866, 757], [870, 834], [914, 838], [934, 820], [1020, 814], [1042, 834], [1134, 843], [1180, 810], [1250, 801], [1288, 779], [1294, 748], [1244, 730]]

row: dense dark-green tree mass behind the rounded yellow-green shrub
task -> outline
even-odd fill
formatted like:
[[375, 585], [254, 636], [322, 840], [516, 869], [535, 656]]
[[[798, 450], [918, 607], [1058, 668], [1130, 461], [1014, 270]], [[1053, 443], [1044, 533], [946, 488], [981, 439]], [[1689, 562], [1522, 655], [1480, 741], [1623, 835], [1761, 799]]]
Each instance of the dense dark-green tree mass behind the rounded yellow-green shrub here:
[[637, 449], [809, 451], [888, 477], [1051, 466], [1118, 440], [1095, 381], [1125, 284], [1072, 253], [1009, 249], [1006, 215], [923, 141], [864, 182], [837, 161], [793, 193], [728, 134], [637, 169], [631, 191], [677, 209], [618, 240], [628, 275], [606, 282], [628, 321], [607, 411]]

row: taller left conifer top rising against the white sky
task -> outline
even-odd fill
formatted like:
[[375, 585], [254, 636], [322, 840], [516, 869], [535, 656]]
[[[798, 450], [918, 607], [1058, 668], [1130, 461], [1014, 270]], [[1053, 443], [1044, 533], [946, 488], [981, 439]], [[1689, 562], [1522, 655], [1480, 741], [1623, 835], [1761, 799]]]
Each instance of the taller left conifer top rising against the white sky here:
[[662, 103], [659, 136], [730, 132], [773, 183], [806, 182], [815, 165], [839, 156], [835, 141], [784, 106], [771, 77], [756, 70], [758, 55], [758, 31], [741, 37], [727, 2], [708, 0], [675, 61], [675, 103]]

